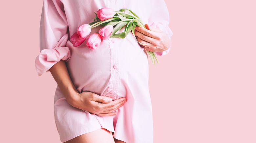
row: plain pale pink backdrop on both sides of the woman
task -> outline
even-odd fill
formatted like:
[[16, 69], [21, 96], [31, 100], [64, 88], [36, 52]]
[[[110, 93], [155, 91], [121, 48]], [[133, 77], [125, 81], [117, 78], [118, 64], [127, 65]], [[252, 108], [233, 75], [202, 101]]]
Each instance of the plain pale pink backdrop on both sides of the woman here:
[[[165, 1], [174, 35], [170, 53], [150, 63], [154, 142], [255, 143], [255, 1]], [[42, 3], [0, 5], [0, 142], [60, 142], [56, 83], [34, 68]]]

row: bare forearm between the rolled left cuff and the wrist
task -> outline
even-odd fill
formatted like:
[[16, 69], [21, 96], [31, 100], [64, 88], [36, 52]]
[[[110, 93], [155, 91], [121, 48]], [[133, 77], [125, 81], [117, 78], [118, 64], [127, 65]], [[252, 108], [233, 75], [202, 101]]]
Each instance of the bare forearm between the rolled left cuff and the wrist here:
[[73, 101], [75, 101], [79, 92], [70, 78], [65, 61], [60, 60], [49, 71], [52, 73], [67, 102], [74, 105]]

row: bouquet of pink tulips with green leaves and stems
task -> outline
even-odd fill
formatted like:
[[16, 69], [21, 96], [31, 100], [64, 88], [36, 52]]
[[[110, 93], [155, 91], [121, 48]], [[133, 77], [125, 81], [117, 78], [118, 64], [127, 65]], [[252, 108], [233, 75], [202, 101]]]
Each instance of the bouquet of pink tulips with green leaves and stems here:
[[[128, 10], [130, 13], [123, 12], [125, 10]], [[119, 11], [114, 11], [111, 8], [101, 8], [97, 11], [97, 13], [95, 12], [95, 14], [96, 17], [94, 22], [79, 26], [77, 31], [71, 36], [70, 40], [74, 47], [81, 45], [86, 40], [86, 37], [90, 34], [91, 28], [99, 25], [103, 25], [104, 27], [101, 28], [98, 33], [92, 34], [86, 41], [86, 45], [90, 49], [96, 49], [100, 45], [102, 39], [108, 39], [109, 37], [123, 39], [131, 31], [135, 37], [134, 30], [137, 25], [146, 28], [139, 16], [127, 8], [122, 8]], [[124, 26], [124, 32], [116, 34], [116, 32]], [[152, 62], [155, 64], [155, 60], [157, 61], [155, 53], [150, 51], [147, 52], [150, 55]]]

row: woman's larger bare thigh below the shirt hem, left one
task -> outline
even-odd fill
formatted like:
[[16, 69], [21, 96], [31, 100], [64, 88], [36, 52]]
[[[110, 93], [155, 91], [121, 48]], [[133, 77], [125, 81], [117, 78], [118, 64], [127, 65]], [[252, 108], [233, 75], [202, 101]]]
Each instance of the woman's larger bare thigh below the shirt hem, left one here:
[[112, 132], [101, 128], [96, 131], [79, 135], [65, 143], [122, 143], [115, 142]]

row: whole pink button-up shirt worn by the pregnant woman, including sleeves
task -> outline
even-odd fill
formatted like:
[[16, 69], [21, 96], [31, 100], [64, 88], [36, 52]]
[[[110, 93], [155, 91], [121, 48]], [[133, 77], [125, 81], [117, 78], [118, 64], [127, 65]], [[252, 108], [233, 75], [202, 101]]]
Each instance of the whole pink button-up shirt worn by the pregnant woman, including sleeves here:
[[[60, 139], [66, 142], [76, 136], [106, 128], [114, 132], [115, 138], [126, 143], [152, 143], [148, 57], [132, 33], [125, 39], [102, 40], [100, 47], [94, 50], [89, 49], [85, 42], [73, 47], [69, 40], [78, 26], [94, 20], [94, 11], [100, 8], [116, 11], [129, 8], [140, 16], [144, 24], [158, 27], [172, 36], [168, 27], [168, 10], [163, 0], [44, 0], [40, 55], [35, 60], [38, 74], [48, 71], [62, 59], [66, 61], [71, 79], [79, 92], [90, 91], [113, 100], [121, 97], [127, 99], [124, 106], [116, 111], [117, 116], [102, 117], [69, 105], [57, 87], [54, 117]], [[93, 28], [90, 35], [99, 28]], [[168, 51], [156, 55], [165, 55]]]

